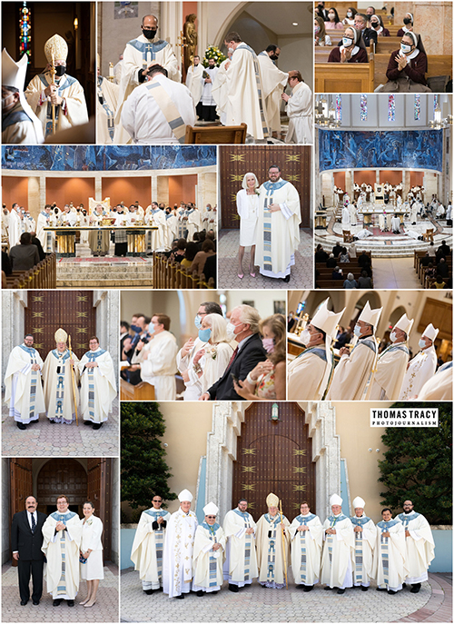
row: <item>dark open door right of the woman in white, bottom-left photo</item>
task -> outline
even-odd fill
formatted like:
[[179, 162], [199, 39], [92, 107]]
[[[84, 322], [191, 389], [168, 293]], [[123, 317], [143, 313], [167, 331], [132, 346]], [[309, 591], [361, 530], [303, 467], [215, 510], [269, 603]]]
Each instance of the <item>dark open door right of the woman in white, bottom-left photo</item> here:
[[87, 500], [93, 502], [94, 515], [103, 521], [104, 560], [110, 560], [112, 554], [112, 459], [90, 458], [87, 468]]

